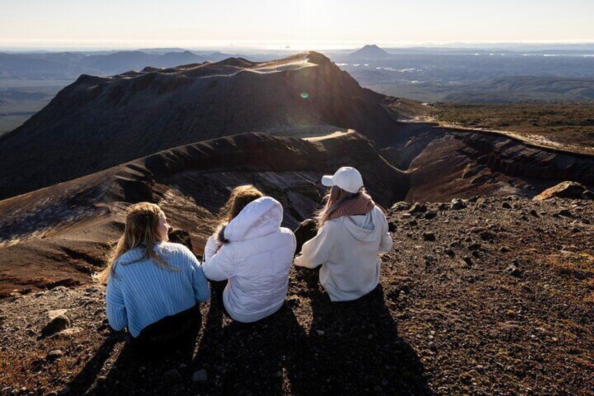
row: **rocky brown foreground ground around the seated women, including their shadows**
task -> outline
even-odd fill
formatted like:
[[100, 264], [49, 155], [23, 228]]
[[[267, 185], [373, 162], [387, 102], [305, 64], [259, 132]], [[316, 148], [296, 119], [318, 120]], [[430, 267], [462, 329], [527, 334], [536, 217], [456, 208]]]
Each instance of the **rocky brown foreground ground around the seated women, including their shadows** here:
[[[111, 332], [102, 287], [0, 301], [0, 394], [594, 392], [594, 205], [473, 198], [397, 203], [381, 285], [331, 303], [293, 268], [256, 325], [202, 306], [195, 350], [150, 361]], [[200, 252], [197, 252], [200, 253]]]

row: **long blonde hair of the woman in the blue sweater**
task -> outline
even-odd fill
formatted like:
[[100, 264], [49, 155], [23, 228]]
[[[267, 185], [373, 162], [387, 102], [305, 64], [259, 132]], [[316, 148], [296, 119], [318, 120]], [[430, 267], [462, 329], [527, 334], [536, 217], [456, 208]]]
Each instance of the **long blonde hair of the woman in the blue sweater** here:
[[165, 216], [163, 210], [154, 203], [141, 202], [128, 207], [124, 233], [118, 240], [106, 268], [99, 273], [99, 282], [107, 283], [109, 277], [115, 274], [116, 261], [122, 254], [137, 247], [143, 250], [142, 257], [126, 264], [153, 259], [158, 265], [167, 270], [174, 269], [154, 250], [155, 244], [162, 242], [158, 232], [159, 218], [162, 215]]

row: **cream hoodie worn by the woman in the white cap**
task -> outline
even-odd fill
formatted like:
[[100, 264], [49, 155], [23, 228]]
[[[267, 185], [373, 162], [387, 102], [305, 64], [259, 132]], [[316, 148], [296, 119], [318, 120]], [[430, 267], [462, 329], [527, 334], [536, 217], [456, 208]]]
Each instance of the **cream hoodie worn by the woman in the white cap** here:
[[295, 265], [319, 270], [319, 282], [332, 301], [350, 301], [375, 289], [380, 280], [378, 254], [392, 249], [385, 214], [374, 207], [368, 214], [326, 221], [315, 238], [303, 245]]

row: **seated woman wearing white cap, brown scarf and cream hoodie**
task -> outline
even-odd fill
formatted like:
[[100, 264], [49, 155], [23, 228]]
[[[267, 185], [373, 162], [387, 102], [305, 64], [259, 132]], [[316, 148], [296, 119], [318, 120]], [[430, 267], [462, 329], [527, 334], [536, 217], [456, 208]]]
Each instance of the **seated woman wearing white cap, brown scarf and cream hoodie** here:
[[319, 281], [331, 301], [358, 299], [378, 285], [378, 255], [392, 248], [386, 217], [365, 192], [355, 168], [340, 168], [322, 177], [322, 184], [331, 189], [317, 213], [318, 232], [303, 244], [295, 265], [321, 265]]

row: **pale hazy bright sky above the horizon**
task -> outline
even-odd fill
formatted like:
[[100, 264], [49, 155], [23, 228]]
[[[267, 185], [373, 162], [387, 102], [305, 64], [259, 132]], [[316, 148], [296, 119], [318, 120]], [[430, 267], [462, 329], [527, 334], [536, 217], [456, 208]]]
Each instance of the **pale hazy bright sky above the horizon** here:
[[0, 47], [594, 41], [594, 0], [0, 0]]

